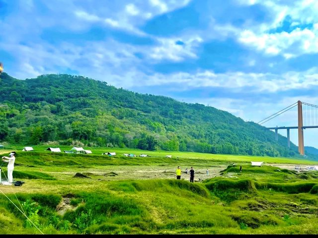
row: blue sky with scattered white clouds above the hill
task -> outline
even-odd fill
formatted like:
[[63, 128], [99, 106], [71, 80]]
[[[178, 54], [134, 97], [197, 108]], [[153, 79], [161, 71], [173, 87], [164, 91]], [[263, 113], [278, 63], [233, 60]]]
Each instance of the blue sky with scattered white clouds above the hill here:
[[0, 61], [18, 79], [83, 75], [257, 122], [318, 105], [317, 12], [315, 0], [0, 0]]

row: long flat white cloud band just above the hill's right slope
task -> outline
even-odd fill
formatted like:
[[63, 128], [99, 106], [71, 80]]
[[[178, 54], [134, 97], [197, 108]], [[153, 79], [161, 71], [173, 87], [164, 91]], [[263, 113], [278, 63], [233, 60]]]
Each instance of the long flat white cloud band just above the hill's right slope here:
[[237, 92], [249, 88], [249, 93], [282, 93], [288, 90], [310, 89], [318, 86], [318, 69], [314, 68], [305, 72], [287, 72], [281, 75], [242, 72], [216, 74], [212, 71], [198, 71], [193, 74], [179, 72], [170, 75], [154, 74], [142, 83], [144, 86], [170, 84], [179, 85], [179, 88], [176, 89], [178, 91], [218, 87]]

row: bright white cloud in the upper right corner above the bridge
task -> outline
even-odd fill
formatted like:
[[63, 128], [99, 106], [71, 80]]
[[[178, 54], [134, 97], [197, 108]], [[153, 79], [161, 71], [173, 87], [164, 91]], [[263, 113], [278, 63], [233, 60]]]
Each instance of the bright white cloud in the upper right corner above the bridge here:
[[[318, 1], [295, 0], [290, 1], [288, 5], [273, 0], [259, 3], [270, 10], [272, 21], [255, 24], [237, 33], [239, 42], [268, 55], [282, 54], [286, 59], [307, 53], [318, 53]], [[270, 30], [281, 27], [287, 16], [294, 27], [291, 32], [269, 33]], [[304, 24], [313, 24], [314, 27], [297, 27]]]

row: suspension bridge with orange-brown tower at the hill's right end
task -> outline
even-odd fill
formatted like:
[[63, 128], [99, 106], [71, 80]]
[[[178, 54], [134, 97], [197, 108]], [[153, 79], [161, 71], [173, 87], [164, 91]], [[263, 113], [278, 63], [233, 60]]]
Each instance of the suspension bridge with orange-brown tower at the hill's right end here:
[[287, 111], [297, 107], [298, 111], [298, 125], [297, 126], [276, 126], [266, 127], [269, 130], [275, 130], [275, 139], [278, 141], [278, 130], [287, 130], [287, 146], [290, 148], [290, 129], [298, 129], [298, 151], [301, 155], [305, 154], [304, 148], [304, 129], [318, 128], [318, 106], [298, 101], [283, 110], [265, 118], [257, 123], [262, 125], [265, 122], [272, 120], [279, 115], [286, 113]]

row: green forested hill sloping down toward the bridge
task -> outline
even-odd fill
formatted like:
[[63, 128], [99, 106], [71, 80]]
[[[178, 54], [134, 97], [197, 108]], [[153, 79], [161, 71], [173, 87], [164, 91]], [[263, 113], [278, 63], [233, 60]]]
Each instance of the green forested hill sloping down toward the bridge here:
[[294, 156], [286, 137], [225, 111], [72, 75], [0, 76], [0, 141]]

